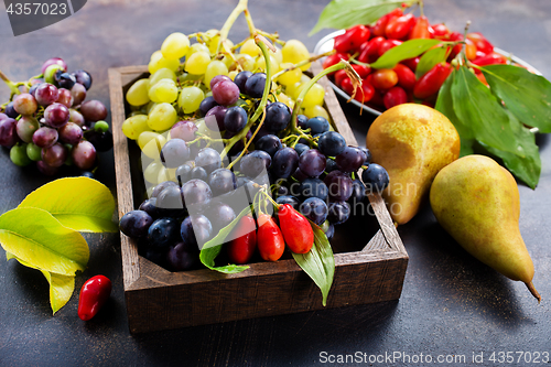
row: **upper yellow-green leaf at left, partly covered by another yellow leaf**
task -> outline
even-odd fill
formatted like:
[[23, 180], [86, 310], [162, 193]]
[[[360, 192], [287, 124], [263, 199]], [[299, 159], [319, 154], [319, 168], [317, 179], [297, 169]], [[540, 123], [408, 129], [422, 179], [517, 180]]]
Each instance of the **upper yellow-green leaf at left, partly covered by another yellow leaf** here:
[[115, 198], [107, 186], [88, 177], [52, 181], [32, 193], [18, 206], [50, 212], [65, 227], [77, 231], [117, 233], [112, 222]]

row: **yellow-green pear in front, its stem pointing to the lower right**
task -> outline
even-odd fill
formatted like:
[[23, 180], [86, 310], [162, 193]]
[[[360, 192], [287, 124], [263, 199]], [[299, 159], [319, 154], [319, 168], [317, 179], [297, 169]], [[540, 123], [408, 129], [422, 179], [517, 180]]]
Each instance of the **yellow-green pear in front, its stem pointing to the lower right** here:
[[532, 284], [533, 263], [520, 235], [520, 201], [512, 175], [491, 158], [466, 155], [442, 169], [430, 202], [442, 227], [482, 262]]

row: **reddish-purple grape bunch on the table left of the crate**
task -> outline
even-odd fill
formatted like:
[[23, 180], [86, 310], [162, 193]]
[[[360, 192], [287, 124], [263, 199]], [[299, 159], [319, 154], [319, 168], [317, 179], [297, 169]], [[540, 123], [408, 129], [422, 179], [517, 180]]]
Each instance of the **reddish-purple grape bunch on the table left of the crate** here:
[[39, 77], [18, 83], [20, 93], [0, 107], [0, 145], [10, 149], [11, 161], [35, 162], [46, 175], [64, 165], [89, 175], [97, 152], [112, 148], [107, 108], [99, 100], [85, 101], [90, 86], [89, 73], [67, 73], [58, 57], [47, 60]]

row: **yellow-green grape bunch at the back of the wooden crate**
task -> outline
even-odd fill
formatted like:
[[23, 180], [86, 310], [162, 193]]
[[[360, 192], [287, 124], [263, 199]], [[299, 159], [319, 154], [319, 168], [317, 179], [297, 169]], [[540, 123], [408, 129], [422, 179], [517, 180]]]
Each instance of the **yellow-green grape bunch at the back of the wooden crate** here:
[[[195, 40], [192, 43], [190, 40]], [[270, 51], [272, 101], [294, 107], [294, 100], [311, 78], [303, 72], [310, 68], [310, 53], [298, 41], [280, 41], [276, 52]], [[225, 75], [234, 80], [244, 71], [258, 73], [266, 69], [266, 61], [252, 37], [238, 44], [220, 40], [220, 32], [185, 35], [170, 34], [150, 58], [149, 77], [134, 82], [126, 94], [131, 112], [122, 125], [122, 132], [136, 140], [140, 148], [152, 147], [147, 155], [156, 155], [170, 136], [165, 132], [182, 120], [198, 121], [205, 111], [202, 102], [212, 96], [210, 80]], [[325, 117], [324, 88], [315, 84], [305, 95], [300, 114]], [[237, 104], [246, 104], [239, 99]], [[150, 142], [154, 143], [150, 143]]]

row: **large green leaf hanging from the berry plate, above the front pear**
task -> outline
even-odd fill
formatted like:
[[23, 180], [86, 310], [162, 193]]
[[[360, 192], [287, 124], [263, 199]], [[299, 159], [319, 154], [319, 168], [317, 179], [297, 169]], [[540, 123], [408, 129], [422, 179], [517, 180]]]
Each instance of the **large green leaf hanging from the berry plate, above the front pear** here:
[[476, 140], [500, 151], [525, 156], [526, 152], [515, 133], [519, 122], [509, 117], [474, 73], [465, 66], [460, 67], [451, 91], [457, 119], [464, 123], [468, 121]]

